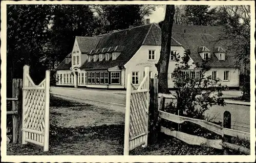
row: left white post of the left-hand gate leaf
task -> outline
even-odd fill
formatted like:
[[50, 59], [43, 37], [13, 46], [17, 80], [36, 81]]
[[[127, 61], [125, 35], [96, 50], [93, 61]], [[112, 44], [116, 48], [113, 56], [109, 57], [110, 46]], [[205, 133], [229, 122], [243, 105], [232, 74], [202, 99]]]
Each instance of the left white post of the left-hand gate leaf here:
[[[29, 81], [27, 78], [27, 74], [29, 74], [29, 66], [25, 65], [23, 67], [23, 88], [29, 86]], [[27, 94], [28, 90], [23, 90], [22, 91], [22, 129], [25, 127], [25, 97]], [[22, 131], [22, 144], [28, 144], [28, 142], [25, 141], [26, 139], [26, 133], [25, 131]]]

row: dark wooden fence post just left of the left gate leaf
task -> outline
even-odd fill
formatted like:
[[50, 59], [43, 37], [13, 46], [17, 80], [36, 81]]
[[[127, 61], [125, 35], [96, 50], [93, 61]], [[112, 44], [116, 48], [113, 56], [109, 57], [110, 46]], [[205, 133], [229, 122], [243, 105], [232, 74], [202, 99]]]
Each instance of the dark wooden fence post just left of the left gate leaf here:
[[12, 111], [17, 114], [12, 115], [12, 142], [22, 142], [22, 79], [12, 79], [12, 98], [18, 101], [12, 101]]

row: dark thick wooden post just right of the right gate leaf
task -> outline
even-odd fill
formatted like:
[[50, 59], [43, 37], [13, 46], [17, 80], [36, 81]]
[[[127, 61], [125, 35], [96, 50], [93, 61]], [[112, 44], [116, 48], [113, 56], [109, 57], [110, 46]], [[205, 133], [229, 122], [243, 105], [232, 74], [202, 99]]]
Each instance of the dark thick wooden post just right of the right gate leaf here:
[[158, 79], [150, 80], [150, 107], [148, 109], [149, 118], [149, 141], [150, 144], [157, 142], [158, 127]]

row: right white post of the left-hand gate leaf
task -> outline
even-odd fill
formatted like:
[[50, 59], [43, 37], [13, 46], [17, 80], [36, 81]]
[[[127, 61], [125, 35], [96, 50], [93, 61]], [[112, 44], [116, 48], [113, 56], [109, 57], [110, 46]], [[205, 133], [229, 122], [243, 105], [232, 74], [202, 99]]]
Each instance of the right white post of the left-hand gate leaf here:
[[44, 134], [44, 151], [49, 151], [49, 105], [50, 105], [50, 71], [46, 71], [45, 83], [45, 134]]

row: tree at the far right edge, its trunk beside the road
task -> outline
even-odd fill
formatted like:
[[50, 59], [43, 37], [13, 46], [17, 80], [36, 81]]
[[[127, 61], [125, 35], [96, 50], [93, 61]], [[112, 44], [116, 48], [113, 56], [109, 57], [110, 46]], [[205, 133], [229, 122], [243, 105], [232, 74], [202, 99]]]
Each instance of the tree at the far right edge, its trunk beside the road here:
[[236, 57], [236, 65], [243, 73], [243, 99], [250, 99], [250, 6], [221, 6], [218, 24], [226, 27], [228, 50]]

